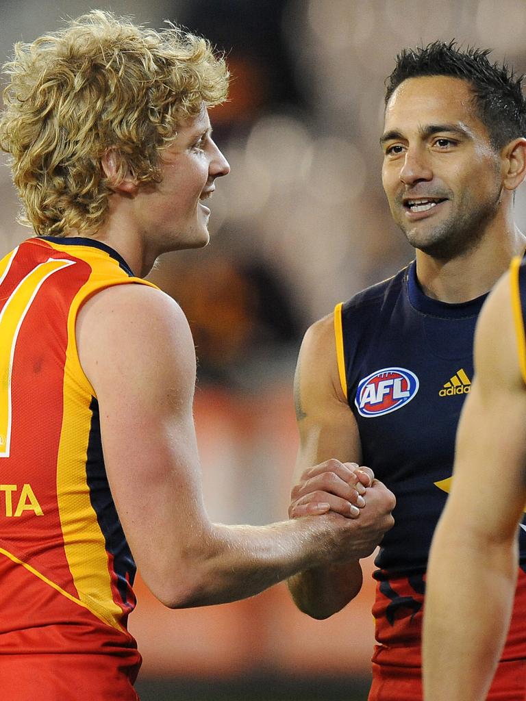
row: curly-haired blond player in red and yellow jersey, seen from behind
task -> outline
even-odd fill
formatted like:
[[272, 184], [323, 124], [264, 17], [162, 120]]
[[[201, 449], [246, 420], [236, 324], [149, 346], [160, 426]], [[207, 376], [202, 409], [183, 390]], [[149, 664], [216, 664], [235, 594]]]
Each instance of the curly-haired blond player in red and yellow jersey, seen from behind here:
[[170, 607], [248, 597], [371, 552], [393, 496], [334, 461], [354, 518], [328, 503], [264, 527], [206, 515], [187, 320], [142, 277], [208, 243], [204, 200], [229, 172], [208, 117], [228, 75], [208, 43], [93, 11], [6, 70], [0, 144], [37, 236], [0, 261], [0, 686], [127, 701], [135, 562]]

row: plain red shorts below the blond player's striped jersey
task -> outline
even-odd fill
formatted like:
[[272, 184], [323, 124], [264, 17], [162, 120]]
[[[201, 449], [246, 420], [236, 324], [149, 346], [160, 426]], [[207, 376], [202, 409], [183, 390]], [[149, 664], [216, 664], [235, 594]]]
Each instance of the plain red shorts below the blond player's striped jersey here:
[[9, 701], [138, 701], [127, 665], [110, 655], [0, 655]]

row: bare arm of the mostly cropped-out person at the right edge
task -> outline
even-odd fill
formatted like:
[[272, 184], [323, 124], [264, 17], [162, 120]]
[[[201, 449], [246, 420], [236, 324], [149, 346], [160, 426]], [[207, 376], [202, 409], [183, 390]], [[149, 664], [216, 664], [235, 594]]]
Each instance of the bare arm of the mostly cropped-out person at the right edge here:
[[452, 491], [426, 587], [427, 701], [482, 701], [504, 646], [526, 503], [526, 388], [508, 275], [480, 315], [476, 378], [461, 415]]

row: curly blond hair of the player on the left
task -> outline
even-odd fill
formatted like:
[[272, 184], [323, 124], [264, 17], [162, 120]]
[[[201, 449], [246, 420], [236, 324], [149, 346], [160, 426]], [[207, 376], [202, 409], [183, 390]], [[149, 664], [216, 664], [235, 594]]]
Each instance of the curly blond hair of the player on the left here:
[[15, 44], [4, 70], [0, 147], [25, 205], [19, 220], [38, 236], [99, 229], [112, 193], [101, 166], [108, 149], [119, 155], [117, 181], [131, 172], [160, 182], [177, 125], [223, 102], [229, 79], [205, 39], [100, 10]]

